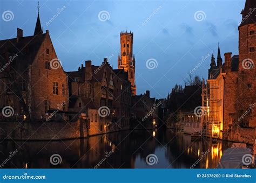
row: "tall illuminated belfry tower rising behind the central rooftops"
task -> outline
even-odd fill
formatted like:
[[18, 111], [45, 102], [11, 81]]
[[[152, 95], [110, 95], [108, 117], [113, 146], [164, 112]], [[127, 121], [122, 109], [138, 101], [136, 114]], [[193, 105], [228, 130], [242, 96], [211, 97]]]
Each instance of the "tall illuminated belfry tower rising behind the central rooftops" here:
[[128, 72], [131, 82], [132, 95], [136, 95], [135, 85], [135, 57], [133, 55], [133, 32], [120, 33], [120, 55], [118, 54], [118, 68]]

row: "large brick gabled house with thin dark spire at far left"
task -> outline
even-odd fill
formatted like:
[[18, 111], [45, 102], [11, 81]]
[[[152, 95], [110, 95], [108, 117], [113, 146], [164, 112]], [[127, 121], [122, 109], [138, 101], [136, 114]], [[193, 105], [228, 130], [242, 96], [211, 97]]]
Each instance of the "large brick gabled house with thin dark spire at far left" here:
[[68, 79], [39, 13], [33, 36], [17, 29], [16, 38], [0, 41], [0, 59], [0, 108], [14, 109], [9, 119], [36, 121], [49, 110], [66, 110]]

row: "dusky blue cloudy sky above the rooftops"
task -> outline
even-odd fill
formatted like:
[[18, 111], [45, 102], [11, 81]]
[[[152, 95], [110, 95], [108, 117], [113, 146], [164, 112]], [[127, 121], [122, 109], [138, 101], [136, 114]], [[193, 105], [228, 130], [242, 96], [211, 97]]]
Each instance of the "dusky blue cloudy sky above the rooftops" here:
[[[225, 52], [238, 54], [237, 28], [244, 4], [245, 0], [41, 0], [40, 18], [65, 71], [76, 71], [85, 60], [100, 65], [105, 57], [117, 68], [119, 33], [127, 27], [134, 32], [137, 94], [151, 90], [151, 96], [163, 98], [175, 83], [184, 85], [199, 62], [193, 75], [207, 77], [207, 55], [214, 50], [217, 57], [218, 42], [223, 60]], [[33, 34], [37, 1], [1, 0], [0, 11], [0, 39], [16, 37], [17, 27], [24, 36]], [[2, 17], [5, 11], [14, 15], [8, 22]], [[98, 17], [101, 11], [109, 13], [106, 21]], [[157, 61], [157, 68], [146, 67], [149, 59]]]

